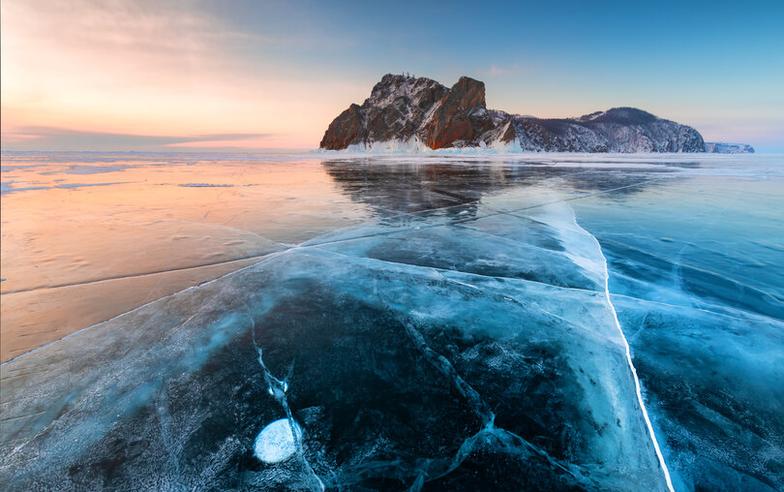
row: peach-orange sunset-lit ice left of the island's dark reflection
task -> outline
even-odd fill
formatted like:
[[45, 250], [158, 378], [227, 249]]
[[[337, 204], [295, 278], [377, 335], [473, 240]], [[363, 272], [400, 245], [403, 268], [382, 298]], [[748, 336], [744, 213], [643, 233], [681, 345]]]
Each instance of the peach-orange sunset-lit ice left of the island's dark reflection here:
[[369, 216], [318, 160], [163, 157], [3, 161], [2, 360]]

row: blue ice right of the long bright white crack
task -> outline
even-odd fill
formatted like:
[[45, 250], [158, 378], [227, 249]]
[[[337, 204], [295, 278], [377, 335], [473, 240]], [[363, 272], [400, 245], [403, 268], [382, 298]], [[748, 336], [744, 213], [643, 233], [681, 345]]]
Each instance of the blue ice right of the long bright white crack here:
[[784, 460], [781, 180], [751, 178], [750, 169], [699, 171], [645, 198], [575, 207], [608, 257], [614, 304], [676, 488], [776, 490]]

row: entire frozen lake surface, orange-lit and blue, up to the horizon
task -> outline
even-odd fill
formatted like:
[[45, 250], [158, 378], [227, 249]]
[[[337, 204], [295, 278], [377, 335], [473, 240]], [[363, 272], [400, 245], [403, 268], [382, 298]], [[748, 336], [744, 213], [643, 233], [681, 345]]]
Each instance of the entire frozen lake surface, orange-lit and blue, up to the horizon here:
[[784, 488], [782, 157], [11, 153], [2, 185], [3, 488]]

